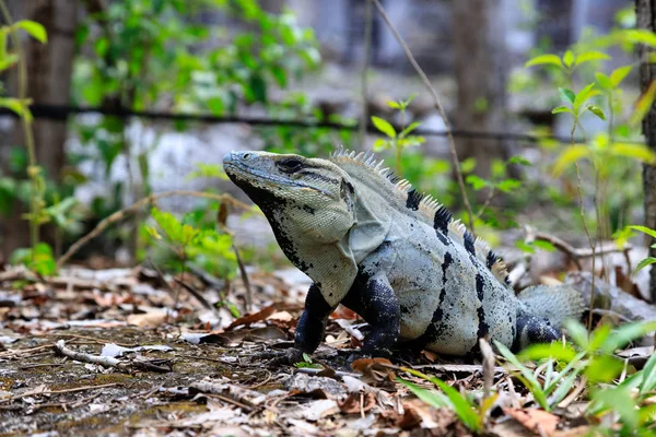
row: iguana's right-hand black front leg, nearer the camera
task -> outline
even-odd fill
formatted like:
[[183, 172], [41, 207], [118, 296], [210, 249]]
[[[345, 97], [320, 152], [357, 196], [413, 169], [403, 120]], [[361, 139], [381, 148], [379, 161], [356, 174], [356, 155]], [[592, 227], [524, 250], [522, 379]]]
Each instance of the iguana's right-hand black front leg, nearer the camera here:
[[391, 355], [401, 330], [401, 311], [387, 275], [360, 273], [342, 304], [358, 312], [372, 328], [364, 339], [362, 355]]

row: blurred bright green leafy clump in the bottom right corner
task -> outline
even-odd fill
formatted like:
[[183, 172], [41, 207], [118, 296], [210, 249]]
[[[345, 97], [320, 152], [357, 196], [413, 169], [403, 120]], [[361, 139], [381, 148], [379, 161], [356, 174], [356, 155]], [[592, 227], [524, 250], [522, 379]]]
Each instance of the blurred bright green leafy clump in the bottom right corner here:
[[[626, 323], [617, 329], [601, 324], [588, 333], [578, 322], [566, 322], [572, 343], [553, 342], [551, 344], [534, 344], [513, 354], [500, 343], [497, 351], [512, 364], [517, 379], [532, 393], [538, 404], [550, 411], [567, 393], [581, 377], [585, 377], [588, 390], [595, 402], [590, 403], [587, 414], [600, 416], [608, 412], [617, 412], [623, 432], [643, 426], [648, 418], [646, 412], [653, 413], [653, 405], [645, 403], [647, 394], [656, 388], [656, 358], [652, 356], [643, 370], [636, 371], [622, 382], [616, 382], [622, 371], [626, 370], [622, 359], [613, 353], [631, 341], [643, 338], [656, 330], [656, 321]], [[523, 362], [544, 362], [542, 371], [536, 374]], [[632, 390], [637, 389], [637, 395]], [[646, 409], [646, 410], [644, 410]], [[646, 417], [641, 422], [641, 417]]]

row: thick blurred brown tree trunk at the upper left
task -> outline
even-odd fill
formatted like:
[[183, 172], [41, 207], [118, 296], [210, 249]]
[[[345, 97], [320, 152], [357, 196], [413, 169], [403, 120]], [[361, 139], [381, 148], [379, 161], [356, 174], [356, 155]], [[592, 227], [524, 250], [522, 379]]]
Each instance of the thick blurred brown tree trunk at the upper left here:
[[[27, 66], [27, 97], [36, 104], [70, 104], [78, 2], [71, 0], [12, 0], [9, 5], [14, 21], [36, 21], [43, 24], [48, 33], [47, 44], [42, 44], [25, 35], [22, 35], [21, 38]], [[16, 95], [16, 69], [13, 69], [11, 73], [10, 90], [12, 95]], [[0, 140], [0, 149], [24, 145], [22, 128], [19, 122], [15, 123], [14, 129], [16, 132], [14, 135], [10, 135], [3, 141]], [[60, 172], [65, 165], [66, 121], [35, 120], [33, 130], [37, 164], [44, 168], [46, 177], [59, 181]], [[5, 257], [9, 257], [19, 247], [30, 246], [28, 224], [21, 218], [25, 208], [15, 206], [11, 216], [0, 221], [0, 237], [2, 237], [0, 253]]]

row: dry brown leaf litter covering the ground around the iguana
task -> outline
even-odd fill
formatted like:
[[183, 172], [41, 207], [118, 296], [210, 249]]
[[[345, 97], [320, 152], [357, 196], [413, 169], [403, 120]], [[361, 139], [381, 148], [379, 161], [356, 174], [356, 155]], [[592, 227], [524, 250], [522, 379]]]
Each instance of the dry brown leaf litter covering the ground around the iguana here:
[[[634, 287], [617, 277], [621, 288]], [[589, 281], [574, 274], [570, 282]], [[312, 362], [270, 366], [267, 352], [293, 345], [307, 286], [291, 270], [250, 271], [249, 297], [239, 280], [143, 267], [70, 267], [48, 280], [21, 268], [0, 271], [0, 434], [472, 435], [448, 393], [487, 405], [480, 430], [489, 435], [578, 436], [594, 425], [584, 417], [585, 380], [544, 411], [487, 342], [473, 361], [398, 351], [391, 362], [349, 365], [366, 324], [343, 307]], [[607, 287], [595, 293], [623, 293]], [[648, 317], [632, 294], [613, 309]], [[231, 310], [246, 303], [250, 312]], [[618, 356], [644, 365], [653, 351]], [[448, 390], [438, 391], [424, 373]], [[418, 388], [427, 394], [418, 399]]]

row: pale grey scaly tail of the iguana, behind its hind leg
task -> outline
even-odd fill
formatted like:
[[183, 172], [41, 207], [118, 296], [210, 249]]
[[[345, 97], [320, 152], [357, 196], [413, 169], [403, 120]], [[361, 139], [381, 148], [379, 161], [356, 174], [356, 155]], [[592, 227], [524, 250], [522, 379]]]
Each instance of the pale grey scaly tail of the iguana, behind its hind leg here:
[[536, 285], [517, 295], [531, 314], [543, 317], [557, 329], [566, 319], [578, 320], [586, 308], [581, 293], [567, 285]]

